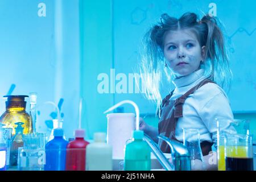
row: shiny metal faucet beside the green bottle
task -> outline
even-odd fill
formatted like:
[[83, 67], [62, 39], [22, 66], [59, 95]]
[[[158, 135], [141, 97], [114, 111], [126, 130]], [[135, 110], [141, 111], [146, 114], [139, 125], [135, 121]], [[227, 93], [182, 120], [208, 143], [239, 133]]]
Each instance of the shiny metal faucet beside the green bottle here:
[[143, 140], [150, 146], [151, 151], [159, 160], [160, 164], [167, 171], [191, 171], [190, 153], [183, 144], [171, 140], [167, 137], [158, 136], [159, 139], [164, 140], [171, 147], [171, 158], [174, 164], [164, 156], [163, 152], [147, 134], [144, 134]]

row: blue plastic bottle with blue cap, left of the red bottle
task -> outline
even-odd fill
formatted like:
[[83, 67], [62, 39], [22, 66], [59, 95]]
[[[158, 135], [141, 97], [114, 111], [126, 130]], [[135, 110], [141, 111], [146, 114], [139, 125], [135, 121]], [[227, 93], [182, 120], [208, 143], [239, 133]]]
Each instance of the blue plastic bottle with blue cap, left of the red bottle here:
[[53, 130], [54, 138], [46, 144], [45, 171], [65, 171], [66, 148], [68, 141], [63, 138], [64, 131], [61, 128]]

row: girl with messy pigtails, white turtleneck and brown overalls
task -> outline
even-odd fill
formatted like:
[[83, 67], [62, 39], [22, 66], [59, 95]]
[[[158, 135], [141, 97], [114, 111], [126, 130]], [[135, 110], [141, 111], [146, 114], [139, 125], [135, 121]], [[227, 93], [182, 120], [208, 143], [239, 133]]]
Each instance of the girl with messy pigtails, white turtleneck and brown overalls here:
[[[224, 38], [217, 20], [205, 15], [201, 20], [194, 13], [179, 19], [163, 14], [160, 22], [144, 36], [145, 54], [141, 72], [147, 96], [158, 105], [158, 129], [141, 119], [141, 130], [158, 142], [157, 136], [183, 142], [183, 128], [197, 128], [207, 169], [212, 145], [217, 146], [215, 118], [233, 119], [228, 97], [222, 87], [230, 86], [232, 72], [225, 52]], [[175, 86], [163, 100], [159, 85], [165, 73]], [[192, 136], [190, 141], [196, 139]], [[163, 152], [170, 152], [166, 142], [159, 140]], [[193, 169], [201, 169], [200, 164]]]

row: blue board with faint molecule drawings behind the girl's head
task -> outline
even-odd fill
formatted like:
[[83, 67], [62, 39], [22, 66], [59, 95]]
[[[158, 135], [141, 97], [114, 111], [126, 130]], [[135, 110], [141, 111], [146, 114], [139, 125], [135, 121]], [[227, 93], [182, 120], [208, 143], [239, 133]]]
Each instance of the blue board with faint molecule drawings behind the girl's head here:
[[[152, 23], [159, 20], [162, 13], [180, 17], [187, 11], [194, 12], [200, 17], [208, 13], [215, 3], [217, 16], [224, 24], [226, 46], [230, 51], [230, 63], [233, 71], [233, 85], [228, 93], [234, 113], [256, 111], [256, 24], [254, 1], [125, 1], [114, 2], [114, 56], [115, 69], [119, 72], [132, 73], [139, 60], [140, 40]], [[124, 45], [125, 43], [125, 45]], [[126, 67], [126, 63], [131, 65]], [[170, 88], [172, 88], [170, 86]], [[242, 93], [245, 92], [245, 93]], [[127, 94], [116, 94], [117, 100], [122, 100]], [[129, 96], [130, 97], [130, 96]], [[131, 96], [141, 100], [140, 96]], [[146, 112], [147, 102], [139, 102], [142, 111]]]

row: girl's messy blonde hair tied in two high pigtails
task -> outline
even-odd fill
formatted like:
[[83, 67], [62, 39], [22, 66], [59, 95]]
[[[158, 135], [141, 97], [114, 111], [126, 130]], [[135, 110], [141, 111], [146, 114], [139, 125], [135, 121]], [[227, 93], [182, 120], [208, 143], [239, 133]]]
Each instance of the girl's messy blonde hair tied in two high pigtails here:
[[172, 30], [191, 30], [197, 36], [200, 46], [205, 46], [205, 61], [200, 66], [205, 69], [205, 75], [222, 88], [230, 88], [232, 72], [224, 44], [224, 36], [217, 19], [209, 15], [201, 20], [195, 13], [185, 13], [179, 19], [162, 14], [160, 21], [150, 28], [143, 37], [142, 60], [139, 71], [145, 85], [147, 98], [156, 101], [158, 111], [162, 97], [160, 84], [164, 76], [170, 81], [173, 74], [164, 64], [163, 42], [164, 34]]

